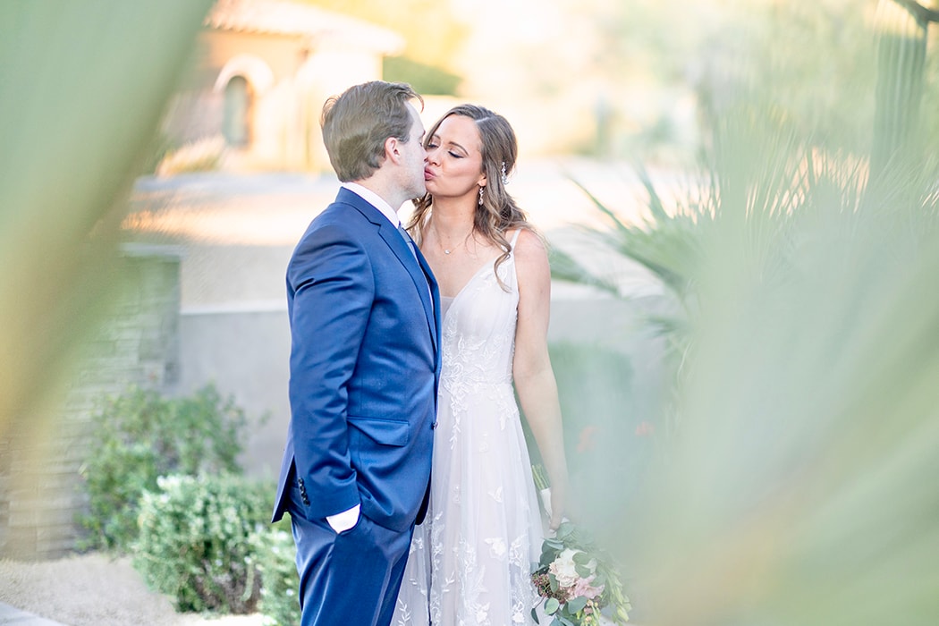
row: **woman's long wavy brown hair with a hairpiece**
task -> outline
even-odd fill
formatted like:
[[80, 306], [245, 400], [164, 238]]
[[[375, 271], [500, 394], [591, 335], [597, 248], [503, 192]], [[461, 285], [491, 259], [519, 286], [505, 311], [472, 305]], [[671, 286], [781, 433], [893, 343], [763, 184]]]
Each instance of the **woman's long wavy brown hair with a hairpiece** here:
[[[460, 104], [445, 113], [425, 135], [424, 147], [437, 133], [440, 123], [451, 115], [463, 115], [476, 122], [479, 130], [481, 144], [483, 145], [483, 172], [486, 185], [483, 191], [483, 203], [476, 206], [473, 219], [473, 231], [485, 237], [502, 251], [493, 268], [499, 276], [499, 266], [509, 258], [512, 246], [505, 233], [515, 228], [528, 228], [534, 231], [525, 212], [516, 205], [513, 198], [505, 191], [505, 178], [512, 174], [516, 167], [518, 157], [518, 143], [516, 132], [501, 115], [476, 104]], [[434, 198], [424, 194], [423, 198], [414, 200], [414, 212], [411, 214], [408, 230], [417, 235], [420, 242], [423, 239], [423, 230], [433, 212]], [[501, 282], [501, 281], [500, 281]], [[503, 285], [504, 286], [504, 285]]]

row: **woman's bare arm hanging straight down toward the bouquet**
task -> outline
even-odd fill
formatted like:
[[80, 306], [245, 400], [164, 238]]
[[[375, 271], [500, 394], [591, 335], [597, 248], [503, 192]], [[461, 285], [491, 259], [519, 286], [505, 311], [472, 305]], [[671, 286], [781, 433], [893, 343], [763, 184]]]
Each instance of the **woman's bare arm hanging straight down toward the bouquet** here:
[[551, 271], [544, 242], [529, 230], [519, 234], [514, 253], [518, 325], [512, 374], [551, 483], [550, 527], [556, 529], [566, 512], [568, 481], [558, 385], [547, 353]]

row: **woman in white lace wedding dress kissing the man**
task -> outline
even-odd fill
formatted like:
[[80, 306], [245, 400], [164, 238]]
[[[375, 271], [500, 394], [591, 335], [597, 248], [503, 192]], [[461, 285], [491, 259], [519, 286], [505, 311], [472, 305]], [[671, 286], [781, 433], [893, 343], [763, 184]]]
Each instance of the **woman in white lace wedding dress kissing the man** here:
[[505, 191], [517, 145], [504, 117], [454, 107], [425, 147], [409, 231], [439, 282], [443, 365], [430, 511], [393, 624], [533, 623], [543, 527], [516, 393], [551, 482], [552, 529], [567, 496], [545, 244]]

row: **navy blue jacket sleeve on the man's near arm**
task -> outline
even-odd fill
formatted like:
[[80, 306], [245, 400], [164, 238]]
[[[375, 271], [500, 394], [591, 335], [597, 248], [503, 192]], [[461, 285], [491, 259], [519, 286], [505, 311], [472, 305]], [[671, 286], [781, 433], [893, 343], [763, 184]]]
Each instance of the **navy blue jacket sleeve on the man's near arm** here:
[[294, 460], [322, 518], [360, 503], [349, 460], [348, 381], [375, 294], [361, 243], [338, 225], [309, 232], [287, 268], [291, 310], [290, 411]]

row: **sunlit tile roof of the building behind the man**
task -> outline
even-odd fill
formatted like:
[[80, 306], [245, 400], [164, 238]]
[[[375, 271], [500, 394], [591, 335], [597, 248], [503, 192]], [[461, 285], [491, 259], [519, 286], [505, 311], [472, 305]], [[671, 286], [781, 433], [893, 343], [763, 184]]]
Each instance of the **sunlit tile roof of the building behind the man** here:
[[405, 46], [404, 38], [387, 28], [287, 0], [218, 0], [205, 23], [219, 30], [348, 40], [383, 54], [401, 53]]

